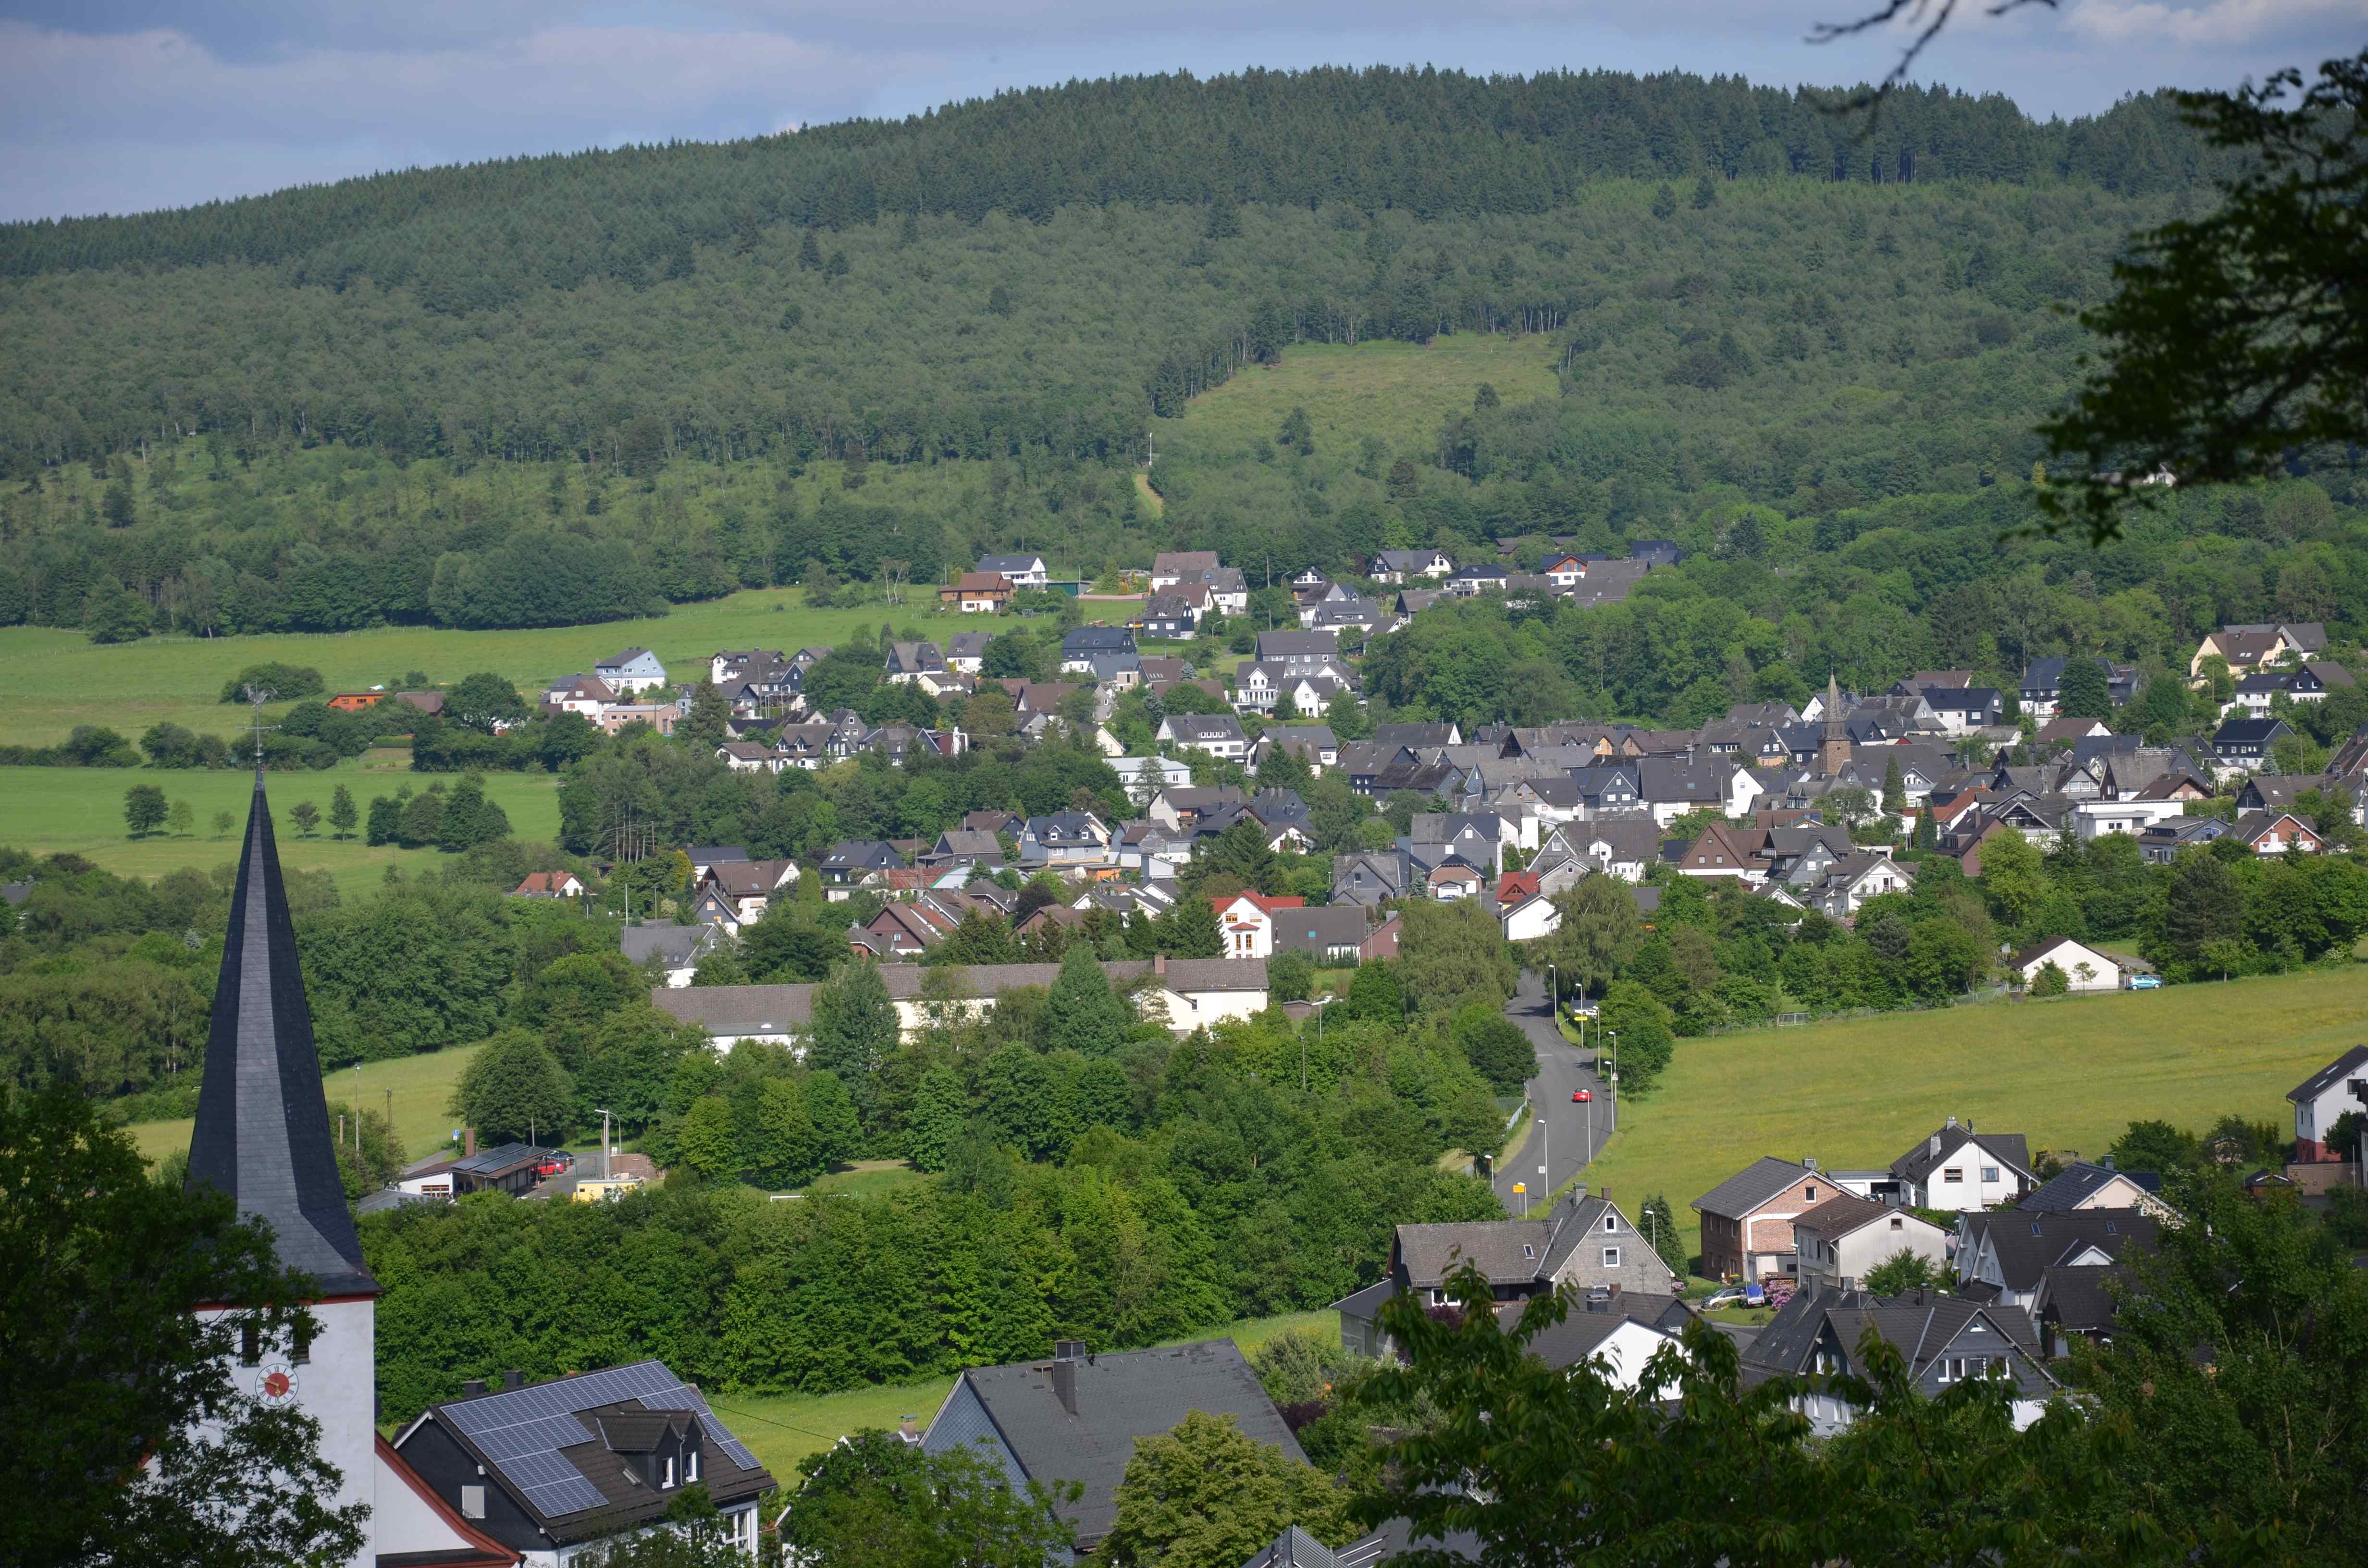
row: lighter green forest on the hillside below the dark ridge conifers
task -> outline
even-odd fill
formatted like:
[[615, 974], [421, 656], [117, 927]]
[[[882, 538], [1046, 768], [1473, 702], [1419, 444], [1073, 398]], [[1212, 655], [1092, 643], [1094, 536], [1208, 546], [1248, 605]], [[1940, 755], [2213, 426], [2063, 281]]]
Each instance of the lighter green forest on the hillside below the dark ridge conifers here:
[[[0, 462], [38, 486], [0, 497], [0, 623], [547, 625], [881, 561], [928, 583], [1018, 540], [1087, 576], [1170, 542], [1338, 573], [1494, 535], [1617, 552], [1729, 502], [1819, 519], [1833, 550], [1883, 526], [1845, 512], [2029, 474], [2032, 419], [2081, 348], [2053, 306], [2100, 298], [2129, 230], [2167, 211], [2086, 187], [1698, 182], [1437, 223], [926, 220], [843, 234], [843, 277], [786, 237], [708, 256], [658, 284], [661, 317], [613, 289], [490, 313], [466, 369], [400, 291], [45, 277], [0, 315], [0, 346], [26, 334], [7, 362], [40, 381], [0, 381]], [[182, 329], [170, 386], [111, 369], [140, 353], [118, 334]], [[1163, 429], [1167, 509], [1141, 509], [1127, 464], [1186, 393], [1293, 341], [1442, 332], [1527, 332], [1561, 398], [1416, 443], [1321, 407], [1281, 448]]]

